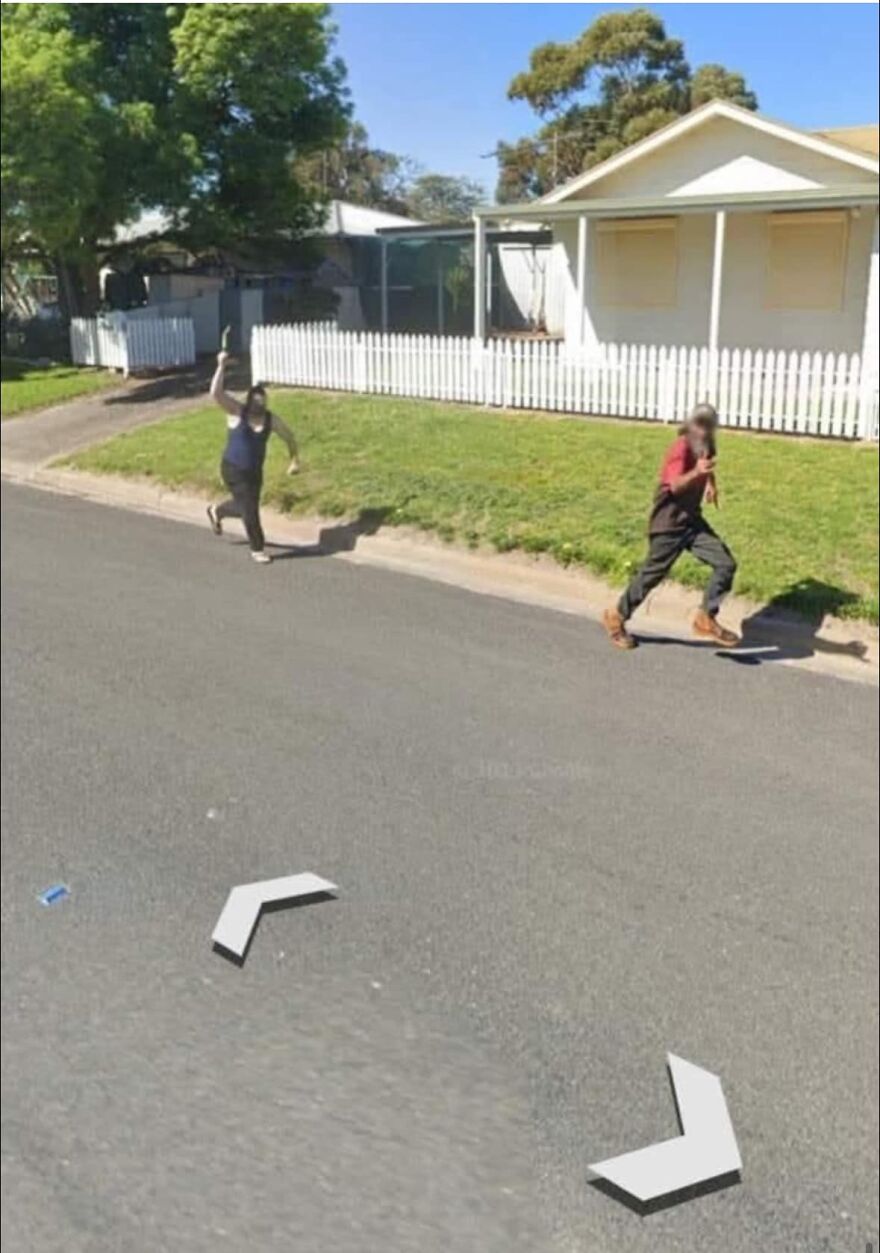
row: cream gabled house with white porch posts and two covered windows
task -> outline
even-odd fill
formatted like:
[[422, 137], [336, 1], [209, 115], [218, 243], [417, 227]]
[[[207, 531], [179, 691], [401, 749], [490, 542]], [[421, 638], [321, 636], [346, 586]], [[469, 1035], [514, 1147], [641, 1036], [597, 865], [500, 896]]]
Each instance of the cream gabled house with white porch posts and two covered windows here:
[[860, 353], [877, 372], [877, 128], [806, 132], [715, 100], [528, 204], [475, 214], [486, 241], [553, 232], [564, 338], [654, 348]]

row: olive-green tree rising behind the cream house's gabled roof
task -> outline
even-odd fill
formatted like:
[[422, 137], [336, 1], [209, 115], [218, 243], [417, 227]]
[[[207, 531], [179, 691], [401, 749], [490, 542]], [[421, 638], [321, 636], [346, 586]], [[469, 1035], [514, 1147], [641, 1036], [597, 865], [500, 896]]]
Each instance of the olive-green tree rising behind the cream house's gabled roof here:
[[681, 40], [647, 9], [604, 14], [570, 44], [540, 45], [508, 96], [544, 124], [534, 139], [499, 144], [500, 200], [543, 195], [708, 99], [757, 108], [741, 74], [691, 74]]

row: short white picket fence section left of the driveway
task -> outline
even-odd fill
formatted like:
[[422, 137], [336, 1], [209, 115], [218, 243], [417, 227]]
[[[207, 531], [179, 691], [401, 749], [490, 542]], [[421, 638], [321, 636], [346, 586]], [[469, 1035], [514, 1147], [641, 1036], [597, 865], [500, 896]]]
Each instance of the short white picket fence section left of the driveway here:
[[196, 361], [193, 320], [130, 318], [124, 313], [75, 317], [70, 321], [70, 356], [78, 366], [133, 370], [192, 366]]

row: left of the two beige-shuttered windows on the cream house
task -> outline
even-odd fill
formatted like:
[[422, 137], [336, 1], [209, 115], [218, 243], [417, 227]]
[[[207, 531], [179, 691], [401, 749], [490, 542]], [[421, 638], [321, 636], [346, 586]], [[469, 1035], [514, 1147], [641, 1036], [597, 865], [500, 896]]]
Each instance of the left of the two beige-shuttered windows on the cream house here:
[[677, 219], [598, 222], [595, 266], [603, 304], [628, 308], [674, 306], [678, 286]]

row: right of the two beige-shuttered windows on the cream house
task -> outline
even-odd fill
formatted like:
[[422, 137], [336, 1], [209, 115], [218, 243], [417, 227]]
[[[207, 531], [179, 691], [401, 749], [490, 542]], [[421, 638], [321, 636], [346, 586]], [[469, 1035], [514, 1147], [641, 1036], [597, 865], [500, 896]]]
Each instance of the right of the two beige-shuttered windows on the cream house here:
[[771, 309], [839, 309], [844, 304], [849, 214], [771, 213], [765, 304]]

